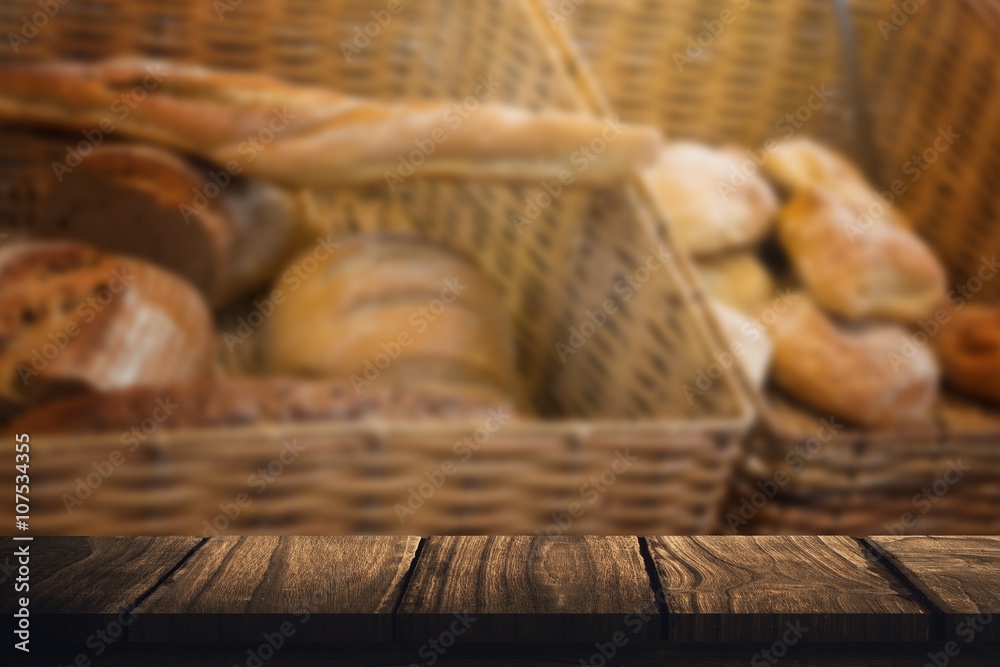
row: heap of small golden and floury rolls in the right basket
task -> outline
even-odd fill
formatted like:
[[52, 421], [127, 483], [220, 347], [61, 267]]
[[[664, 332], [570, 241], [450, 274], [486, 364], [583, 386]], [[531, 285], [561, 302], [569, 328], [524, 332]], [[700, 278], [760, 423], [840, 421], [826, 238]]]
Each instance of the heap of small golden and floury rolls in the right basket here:
[[845, 158], [805, 139], [768, 153], [676, 143], [645, 173], [750, 380], [868, 428], [926, 423], [942, 376], [1000, 402], [1000, 309], [949, 291]]

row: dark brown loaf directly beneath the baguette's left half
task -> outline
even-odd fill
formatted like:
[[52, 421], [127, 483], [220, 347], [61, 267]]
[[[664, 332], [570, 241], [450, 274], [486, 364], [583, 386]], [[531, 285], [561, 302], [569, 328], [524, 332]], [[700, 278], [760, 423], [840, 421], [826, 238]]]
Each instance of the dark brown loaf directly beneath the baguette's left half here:
[[261, 287], [319, 233], [304, 193], [139, 144], [106, 144], [66, 174], [33, 233], [169, 268], [223, 305]]

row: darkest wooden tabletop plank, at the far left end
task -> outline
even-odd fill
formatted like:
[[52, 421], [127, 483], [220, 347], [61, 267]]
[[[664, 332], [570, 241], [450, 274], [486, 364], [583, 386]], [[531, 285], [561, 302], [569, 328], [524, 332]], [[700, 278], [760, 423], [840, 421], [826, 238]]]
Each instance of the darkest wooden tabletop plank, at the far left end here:
[[134, 620], [129, 613], [132, 606], [200, 542], [198, 537], [9, 540], [8, 553], [28, 548], [30, 588], [4, 595], [3, 613], [13, 613], [16, 601], [28, 598], [32, 646], [53, 642], [89, 646], [88, 640], [93, 643], [98, 632], [122, 641]]

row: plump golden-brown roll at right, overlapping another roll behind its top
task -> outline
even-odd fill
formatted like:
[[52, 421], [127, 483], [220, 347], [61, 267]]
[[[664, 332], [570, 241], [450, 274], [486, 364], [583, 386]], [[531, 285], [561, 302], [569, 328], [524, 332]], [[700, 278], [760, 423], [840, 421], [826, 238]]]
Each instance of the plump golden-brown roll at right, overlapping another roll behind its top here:
[[909, 324], [945, 299], [944, 268], [922, 240], [885, 219], [859, 220], [828, 190], [796, 195], [778, 231], [808, 290], [847, 320]]

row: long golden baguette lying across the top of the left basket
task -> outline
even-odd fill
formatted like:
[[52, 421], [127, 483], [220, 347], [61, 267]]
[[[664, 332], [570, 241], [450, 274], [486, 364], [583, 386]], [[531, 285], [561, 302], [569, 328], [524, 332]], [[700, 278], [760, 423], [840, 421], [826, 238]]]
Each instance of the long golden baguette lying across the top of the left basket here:
[[[579, 113], [529, 112], [484, 102], [389, 104], [248, 73], [121, 58], [0, 66], [0, 119], [92, 130], [160, 144], [277, 183], [386, 183], [411, 172], [538, 182], [569, 173], [610, 184], [649, 164], [654, 128], [618, 127]], [[129, 113], [112, 113], [130, 90]], [[588, 149], [601, 139], [604, 148]], [[582, 151], [588, 150], [581, 168]], [[410, 156], [415, 157], [410, 157]], [[402, 165], [402, 167], [401, 167]], [[387, 178], [387, 175], [389, 178]]]

